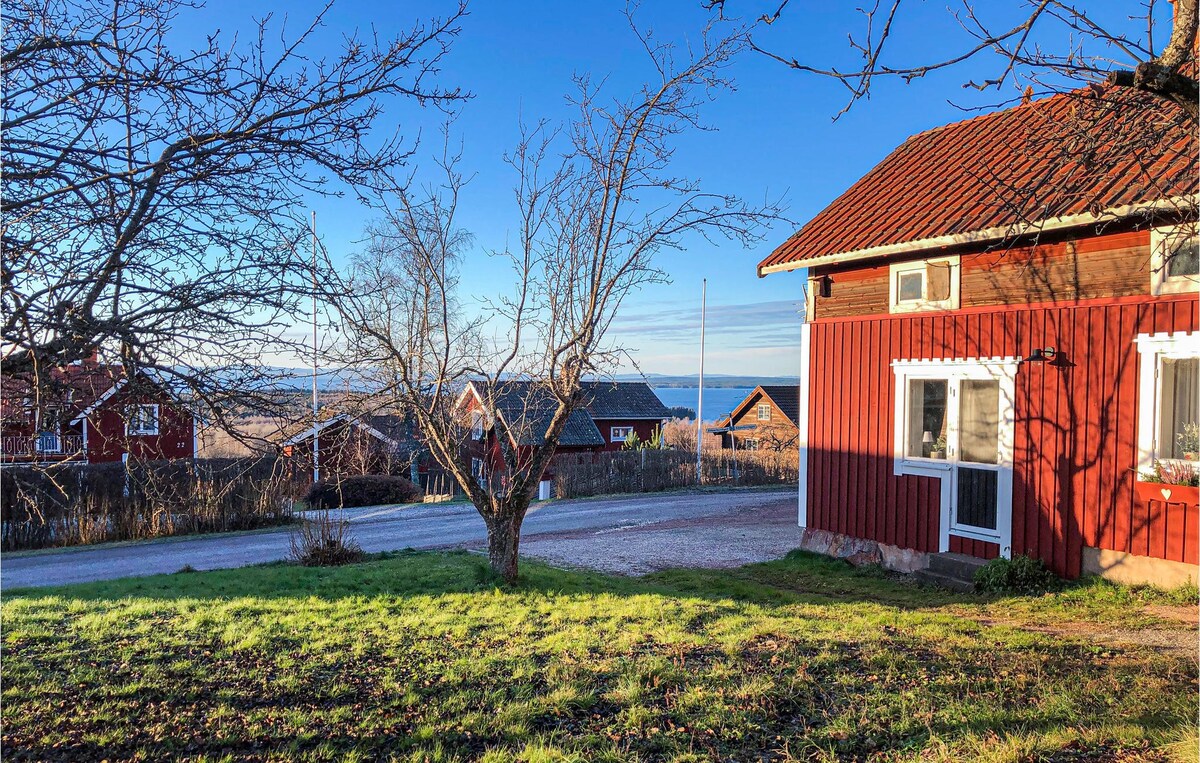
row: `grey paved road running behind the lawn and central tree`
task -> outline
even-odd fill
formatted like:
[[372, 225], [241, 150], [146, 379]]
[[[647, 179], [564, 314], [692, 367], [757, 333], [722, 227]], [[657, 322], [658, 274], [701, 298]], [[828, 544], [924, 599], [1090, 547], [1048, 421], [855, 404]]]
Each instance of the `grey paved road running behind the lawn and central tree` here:
[[[770, 518], [770, 524], [787, 527], [794, 516], [791, 491], [713, 491], [696, 493], [646, 494], [623, 498], [556, 500], [534, 506], [522, 530], [523, 551], [547, 547], [546, 557], [560, 558], [563, 541], [586, 552], [588, 536], [636, 534], [670, 529], [676, 536], [694, 527], [713, 533], [721, 524], [752, 525], [756, 517]], [[354, 539], [364, 551], [401, 548], [479, 547], [486, 542], [486, 530], [469, 504], [430, 504], [419, 507], [355, 509], [346, 512]], [[794, 527], [794, 522], [791, 523]], [[632, 537], [632, 535], [631, 535]], [[580, 542], [582, 541], [582, 543]], [[785, 542], [786, 546], [786, 542]], [[790, 546], [794, 547], [794, 546]], [[784, 551], [787, 547], [782, 547]], [[768, 552], [778, 555], [776, 548]], [[164, 539], [96, 548], [55, 551], [28, 555], [0, 555], [0, 587], [59, 585], [118, 577], [175, 572], [185, 565], [197, 570], [239, 567], [286, 559], [290, 553], [290, 529], [218, 535], [206, 537]], [[650, 552], [653, 554], [653, 551]], [[533, 555], [541, 555], [534, 553]], [[762, 554], [758, 554], [762, 555]], [[570, 555], [568, 557], [570, 558]], [[769, 557], [767, 557], [769, 558]], [[740, 558], [736, 559], [740, 560]], [[580, 557], [580, 564], [587, 564]], [[601, 565], [602, 566], [602, 565]], [[654, 569], [652, 560], [642, 565]], [[722, 566], [720, 559], [714, 566]], [[630, 569], [629, 571], [640, 571]]]

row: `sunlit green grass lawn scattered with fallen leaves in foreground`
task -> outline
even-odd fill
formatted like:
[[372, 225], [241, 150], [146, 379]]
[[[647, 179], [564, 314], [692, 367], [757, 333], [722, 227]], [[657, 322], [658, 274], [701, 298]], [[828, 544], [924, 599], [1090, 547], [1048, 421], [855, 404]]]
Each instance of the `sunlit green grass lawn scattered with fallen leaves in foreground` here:
[[522, 578], [402, 553], [6, 594], [5, 759], [1169, 761], [1196, 739], [1194, 655], [1025, 627], [1154, 627], [1160, 594], [962, 596], [800, 553]]

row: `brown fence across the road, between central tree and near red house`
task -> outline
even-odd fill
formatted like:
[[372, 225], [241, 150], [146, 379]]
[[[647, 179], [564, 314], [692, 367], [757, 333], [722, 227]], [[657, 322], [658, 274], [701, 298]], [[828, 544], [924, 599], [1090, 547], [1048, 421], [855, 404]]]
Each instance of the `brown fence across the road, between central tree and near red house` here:
[[[556, 498], [608, 493], [654, 493], [696, 485], [696, 453], [680, 450], [634, 450], [596, 455], [562, 455], [550, 469]], [[797, 480], [797, 453], [774, 451], [706, 451], [701, 485], [787, 485]]]

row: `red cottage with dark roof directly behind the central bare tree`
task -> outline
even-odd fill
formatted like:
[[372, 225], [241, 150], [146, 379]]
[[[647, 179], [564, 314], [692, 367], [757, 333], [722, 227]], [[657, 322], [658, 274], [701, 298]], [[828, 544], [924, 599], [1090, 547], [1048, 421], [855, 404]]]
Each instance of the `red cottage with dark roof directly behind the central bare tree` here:
[[[643, 382], [583, 382], [582, 386], [586, 408], [575, 410], [568, 419], [556, 449], [558, 455], [620, 450], [631, 433], [649, 440], [671, 415]], [[514, 445], [532, 447], [544, 440], [556, 405], [548, 392], [533, 382], [503, 383], [496, 390], [494, 413], [486, 410], [485, 397], [478, 383], [472, 382], [457, 401], [472, 421], [472, 471], [476, 479], [503, 477], [504, 455], [496, 439], [496, 427], [488, 422], [493, 416], [502, 419], [510, 433], [522, 433]]]

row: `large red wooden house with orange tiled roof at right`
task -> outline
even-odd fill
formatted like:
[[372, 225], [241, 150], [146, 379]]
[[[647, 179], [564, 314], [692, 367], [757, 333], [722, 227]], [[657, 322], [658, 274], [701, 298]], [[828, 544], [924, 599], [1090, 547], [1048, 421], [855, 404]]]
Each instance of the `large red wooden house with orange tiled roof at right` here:
[[1195, 157], [1174, 107], [1058, 95], [913, 136], [767, 257], [808, 271], [805, 546], [1200, 579], [1196, 488], [1147, 482], [1200, 450]]

